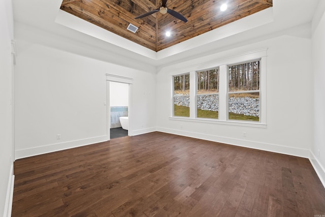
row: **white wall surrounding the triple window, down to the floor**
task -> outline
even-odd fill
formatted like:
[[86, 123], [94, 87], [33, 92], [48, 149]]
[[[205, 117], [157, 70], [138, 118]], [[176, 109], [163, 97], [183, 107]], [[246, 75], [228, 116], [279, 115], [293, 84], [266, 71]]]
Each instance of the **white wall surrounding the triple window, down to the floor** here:
[[[313, 90], [310, 25], [288, 29], [270, 39], [243, 42], [234, 49], [165, 67], [157, 74], [157, 129], [212, 141], [309, 157], [313, 140]], [[307, 33], [307, 34], [306, 34]], [[224, 57], [267, 50], [267, 128], [228, 126], [169, 119], [172, 111], [172, 75], [207, 69]], [[246, 132], [243, 137], [242, 132]]]

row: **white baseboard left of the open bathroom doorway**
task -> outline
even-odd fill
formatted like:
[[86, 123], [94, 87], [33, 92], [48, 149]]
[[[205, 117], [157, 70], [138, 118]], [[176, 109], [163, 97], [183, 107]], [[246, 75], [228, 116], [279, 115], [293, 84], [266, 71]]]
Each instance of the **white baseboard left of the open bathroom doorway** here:
[[21, 150], [15, 151], [15, 158], [17, 160], [17, 159], [21, 159], [21, 158], [36, 156], [39, 154], [44, 154], [44, 153], [49, 153], [49, 152], [54, 152], [54, 151], [59, 151], [59, 150], [64, 150], [64, 149], [75, 148], [75, 147], [80, 147], [80, 146], [84, 146], [84, 145], [104, 142], [107, 140], [108, 140], [107, 135], [104, 135], [104, 136], [99, 136], [99, 137], [92, 137], [92, 138], [87, 138], [87, 139], [80, 139], [80, 140], [75, 140], [75, 141], [55, 143], [55, 144], [44, 145], [44, 146], [39, 146], [39, 147], [21, 149]]

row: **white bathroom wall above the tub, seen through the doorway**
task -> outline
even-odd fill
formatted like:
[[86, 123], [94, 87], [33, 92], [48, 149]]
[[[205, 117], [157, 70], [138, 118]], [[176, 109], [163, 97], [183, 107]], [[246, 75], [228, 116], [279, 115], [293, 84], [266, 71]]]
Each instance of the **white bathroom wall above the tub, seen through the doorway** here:
[[128, 85], [110, 82], [110, 106], [128, 106]]

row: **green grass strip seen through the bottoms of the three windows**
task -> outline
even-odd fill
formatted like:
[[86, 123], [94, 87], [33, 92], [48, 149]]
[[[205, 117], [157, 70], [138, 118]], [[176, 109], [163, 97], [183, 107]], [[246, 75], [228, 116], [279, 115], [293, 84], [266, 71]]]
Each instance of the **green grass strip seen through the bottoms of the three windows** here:
[[[218, 118], [217, 111], [207, 111], [198, 109], [198, 117], [201, 118]], [[174, 116], [189, 117], [189, 107], [174, 105]], [[235, 114], [229, 112], [229, 119], [231, 120], [249, 120], [249, 121], [259, 121], [259, 117], [245, 116], [243, 114]]]

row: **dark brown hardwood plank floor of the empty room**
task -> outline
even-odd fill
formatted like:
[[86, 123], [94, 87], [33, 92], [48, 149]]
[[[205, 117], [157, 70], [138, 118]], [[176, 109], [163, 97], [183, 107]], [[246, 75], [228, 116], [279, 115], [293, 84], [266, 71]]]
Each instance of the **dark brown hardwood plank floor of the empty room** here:
[[308, 159], [165, 133], [17, 160], [12, 216], [310, 216]]

